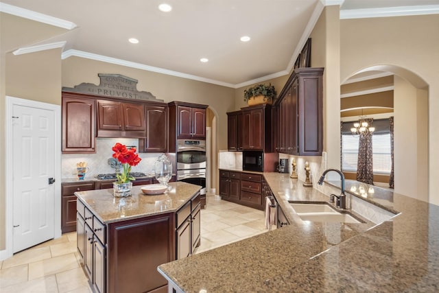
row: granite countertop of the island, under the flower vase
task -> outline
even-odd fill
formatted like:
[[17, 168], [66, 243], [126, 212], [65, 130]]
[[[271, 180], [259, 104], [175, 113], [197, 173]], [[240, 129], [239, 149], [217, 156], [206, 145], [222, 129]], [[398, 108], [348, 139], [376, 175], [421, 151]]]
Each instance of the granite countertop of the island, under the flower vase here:
[[180, 181], [169, 183], [169, 187], [171, 189], [166, 194], [156, 196], [143, 194], [141, 186], [133, 186], [131, 196], [126, 198], [115, 198], [112, 189], [76, 191], [75, 196], [107, 224], [178, 211], [201, 189], [198, 185]]

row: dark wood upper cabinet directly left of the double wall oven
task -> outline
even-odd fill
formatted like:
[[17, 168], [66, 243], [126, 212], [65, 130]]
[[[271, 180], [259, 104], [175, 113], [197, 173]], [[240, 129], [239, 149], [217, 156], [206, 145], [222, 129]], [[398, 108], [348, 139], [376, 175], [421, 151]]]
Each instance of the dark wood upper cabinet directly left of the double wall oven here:
[[168, 108], [145, 104], [146, 137], [139, 139], [139, 152], [167, 152]]

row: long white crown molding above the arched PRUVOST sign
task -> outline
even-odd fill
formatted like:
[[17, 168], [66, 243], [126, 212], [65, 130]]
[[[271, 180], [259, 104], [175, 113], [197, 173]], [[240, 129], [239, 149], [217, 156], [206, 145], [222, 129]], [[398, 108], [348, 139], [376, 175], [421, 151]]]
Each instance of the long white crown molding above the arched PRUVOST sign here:
[[229, 84], [227, 82], [220, 82], [218, 80], [211, 80], [209, 78], [202, 78], [202, 77], [197, 76], [197, 75], [181, 73], [178, 71], [171, 71], [168, 69], [153, 67], [153, 66], [149, 66], [149, 65], [143, 65], [143, 64], [137, 63], [137, 62], [130, 62], [130, 61], [126, 61], [126, 60], [121, 60], [121, 59], [112, 58], [112, 57], [108, 57], [108, 56], [102, 56], [102, 55], [98, 55], [98, 54], [88, 53], [88, 52], [79, 51], [79, 50], [75, 50], [75, 49], [70, 49], [70, 50], [64, 51], [61, 54], [61, 59], [64, 60], [64, 59], [67, 59], [67, 58], [73, 57], [73, 56], [102, 61], [102, 62], [107, 62], [107, 63], [111, 63], [111, 64], [115, 64], [115, 65], [132, 67], [132, 68], [136, 68], [136, 69], [142, 69], [142, 70], [146, 70], [146, 71], [152, 71], [152, 72], [156, 72], [156, 73], [163, 73], [166, 75], [177, 76], [178, 78], [188, 78], [189, 80], [198, 80], [199, 82], [207, 82], [209, 84], [217, 84], [219, 86], [226, 86], [226, 87], [230, 87], [230, 88], [235, 88], [234, 84]]

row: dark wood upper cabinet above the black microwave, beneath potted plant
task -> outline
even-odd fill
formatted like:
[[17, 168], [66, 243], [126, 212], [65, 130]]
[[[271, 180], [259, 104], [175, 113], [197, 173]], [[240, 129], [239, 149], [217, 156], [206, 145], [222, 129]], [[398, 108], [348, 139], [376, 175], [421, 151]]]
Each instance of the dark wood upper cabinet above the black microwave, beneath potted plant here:
[[243, 150], [271, 152], [272, 107], [268, 104], [241, 108]]

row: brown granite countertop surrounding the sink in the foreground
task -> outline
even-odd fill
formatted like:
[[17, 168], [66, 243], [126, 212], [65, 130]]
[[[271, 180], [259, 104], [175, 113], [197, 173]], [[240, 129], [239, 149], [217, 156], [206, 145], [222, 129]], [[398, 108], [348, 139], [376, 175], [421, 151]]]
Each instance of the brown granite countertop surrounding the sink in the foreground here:
[[158, 271], [184, 292], [439, 291], [438, 206], [393, 194], [399, 215], [381, 224], [304, 222], [287, 201], [328, 196], [288, 174], [263, 175], [290, 225]]

